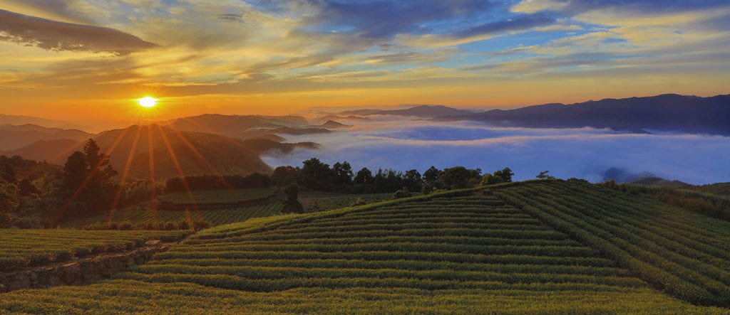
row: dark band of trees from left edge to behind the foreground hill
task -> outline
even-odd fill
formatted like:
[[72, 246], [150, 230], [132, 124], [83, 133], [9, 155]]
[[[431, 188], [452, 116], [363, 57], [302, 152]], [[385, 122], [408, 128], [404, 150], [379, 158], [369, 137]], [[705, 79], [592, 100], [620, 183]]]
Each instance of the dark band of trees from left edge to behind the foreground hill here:
[[[302, 162], [301, 167], [281, 166], [271, 174], [193, 175], [170, 178], [165, 182], [136, 180], [120, 183], [110, 156], [101, 153], [93, 139], [66, 159], [63, 167], [34, 162], [20, 156], [0, 156], [0, 227], [37, 228], [54, 226], [63, 218], [90, 217], [139, 202], [163, 193], [185, 190], [225, 188], [289, 188], [288, 204], [299, 210], [294, 201], [300, 188], [346, 194], [411, 192], [430, 194], [439, 190], [469, 188], [478, 185], [510, 182], [509, 168], [482, 174], [480, 169], [430, 167], [418, 170], [376, 171], [362, 167], [355, 172], [348, 162], [330, 166], [320, 159]], [[290, 187], [296, 184], [296, 187]], [[283, 189], [284, 191], [284, 189]]]

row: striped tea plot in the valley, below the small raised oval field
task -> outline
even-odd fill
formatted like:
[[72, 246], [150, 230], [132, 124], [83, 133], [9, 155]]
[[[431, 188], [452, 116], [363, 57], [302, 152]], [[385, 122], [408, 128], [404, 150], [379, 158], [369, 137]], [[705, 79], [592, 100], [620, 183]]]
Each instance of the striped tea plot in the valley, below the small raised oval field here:
[[[148, 207], [128, 207], [115, 212], [111, 222], [123, 223], [131, 222], [136, 225], [145, 225], [147, 223], [164, 223], [164, 222], [180, 222], [182, 220], [204, 220], [210, 226], [219, 226], [221, 224], [236, 223], [248, 220], [250, 218], [268, 217], [281, 212], [282, 204], [272, 202], [270, 204], [261, 204], [250, 207], [234, 207], [220, 210], [200, 210], [200, 211], [180, 211], [180, 210], [150, 210]], [[82, 218], [64, 221], [63, 226], [82, 227], [94, 224], [103, 224], [109, 222], [106, 215], [97, 215], [91, 218]]]

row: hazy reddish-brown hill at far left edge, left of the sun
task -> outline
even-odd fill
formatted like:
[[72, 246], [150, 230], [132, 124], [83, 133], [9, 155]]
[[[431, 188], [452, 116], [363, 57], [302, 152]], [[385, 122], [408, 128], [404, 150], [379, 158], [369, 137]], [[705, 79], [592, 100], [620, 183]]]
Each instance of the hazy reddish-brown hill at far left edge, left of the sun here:
[[68, 139], [82, 141], [93, 136], [91, 133], [77, 129], [47, 128], [35, 124], [23, 124], [20, 126], [1, 124], [0, 150], [15, 150], [41, 140]]

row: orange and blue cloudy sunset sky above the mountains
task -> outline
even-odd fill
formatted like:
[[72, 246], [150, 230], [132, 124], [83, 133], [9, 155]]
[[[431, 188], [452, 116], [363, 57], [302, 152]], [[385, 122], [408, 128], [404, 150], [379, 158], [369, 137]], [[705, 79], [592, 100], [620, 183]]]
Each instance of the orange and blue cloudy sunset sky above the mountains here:
[[727, 94], [719, 1], [0, 0], [0, 113], [120, 124], [314, 106]]

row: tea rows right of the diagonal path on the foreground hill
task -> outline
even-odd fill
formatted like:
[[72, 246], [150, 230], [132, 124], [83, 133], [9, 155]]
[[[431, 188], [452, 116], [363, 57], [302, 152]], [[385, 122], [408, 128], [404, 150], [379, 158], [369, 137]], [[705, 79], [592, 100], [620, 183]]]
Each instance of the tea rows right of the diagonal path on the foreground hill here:
[[730, 306], [726, 220], [580, 183], [531, 183], [501, 189], [497, 196], [670, 295]]

